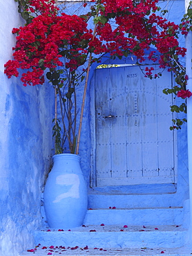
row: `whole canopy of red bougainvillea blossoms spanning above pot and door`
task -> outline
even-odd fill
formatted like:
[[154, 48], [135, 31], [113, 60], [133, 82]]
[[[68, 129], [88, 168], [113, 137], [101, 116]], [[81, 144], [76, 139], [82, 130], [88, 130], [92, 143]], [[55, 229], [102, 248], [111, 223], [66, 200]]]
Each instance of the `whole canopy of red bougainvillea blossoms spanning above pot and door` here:
[[[142, 63], [145, 51], [154, 46], [156, 51], [151, 51], [148, 59], [155, 63], [158, 61], [160, 68], [169, 68], [175, 73], [175, 82], [180, 87], [172, 93], [181, 98], [191, 97], [191, 92], [186, 91], [187, 80], [179, 62], [186, 49], [181, 48], [177, 40], [179, 33], [186, 35], [191, 29], [190, 17], [186, 16], [180, 26], [166, 20], [155, 13], [160, 9], [158, 0], [91, 2], [90, 11], [77, 16], [64, 12], [58, 15], [55, 0], [28, 1], [26, 12], [32, 15], [29, 19], [25, 12], [22, 17], [26, 16], [26, 25], [12, 30], [17, 35], [17, 42], [13, 48], [14, 60], [5, 64], [6, 75], [18, 77], [18, 69], [21, 68], [27, 70], [21, 75], [24, 86], [43, 84], [44, 71], [49, 68], [50, 81], [58, 84], [60, 80], [51, 77], [57, 66], [74, 74], [79, 66], [86, 63], [89, 55], [90, 63], [93, 63], [104, 53], [119, 58], [135, 55], [137, 63]], [[96, 24], [95, 33], [87, 28], [90, 17]], [[153, 68], [147, 68], [146, 77], [158, 77], [153, 72]]]

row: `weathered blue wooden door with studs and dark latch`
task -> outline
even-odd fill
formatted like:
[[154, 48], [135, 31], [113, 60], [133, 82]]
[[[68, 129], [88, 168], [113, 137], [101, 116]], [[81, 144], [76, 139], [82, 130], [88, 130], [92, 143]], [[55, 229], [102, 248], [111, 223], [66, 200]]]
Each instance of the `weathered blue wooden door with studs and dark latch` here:
[[97, 186], [175, 183], [166, 86], [171, 86], [166, 71], [153, 80], [138, 66], [95, 71]]

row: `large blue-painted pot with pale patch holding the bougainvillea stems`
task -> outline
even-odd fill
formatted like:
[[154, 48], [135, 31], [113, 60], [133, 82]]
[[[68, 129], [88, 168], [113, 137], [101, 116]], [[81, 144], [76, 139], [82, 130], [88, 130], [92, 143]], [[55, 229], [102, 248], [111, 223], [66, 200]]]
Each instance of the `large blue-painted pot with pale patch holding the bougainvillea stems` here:
[[53, 156], [53, 167], [44, 190], [44, 208], [50, 228], [81, 226], [87, 210], [86, 183], [80, 157], [75, 154]]

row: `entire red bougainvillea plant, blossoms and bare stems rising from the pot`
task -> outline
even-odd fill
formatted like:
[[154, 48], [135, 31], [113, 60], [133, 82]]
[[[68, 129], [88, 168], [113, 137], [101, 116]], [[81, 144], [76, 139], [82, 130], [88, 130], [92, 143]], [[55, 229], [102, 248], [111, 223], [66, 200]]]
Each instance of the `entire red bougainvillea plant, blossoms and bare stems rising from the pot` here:
[[[57, 115], [54, 119], [56, 154], [63, 152], [66, 140], [71, 153], [75, 153], [77, 145], [78, 154], [80, 130], [77, 137], [75, 89], [84, 77], [87, 85], [90, 65], [99, 62], [105, 53], [119, 58], [135, 55], [137, 64], [142, 65], [144, 52], [150, 51], [152, 46], [156, 51], [151, 51], [148, 60], [158, 61], [162, 70], [168, 68], [175, 75], [176, 85], [164, 89], [164, 93], [173, 93], [183, 99], [191, 96], [192, 93], [186, 90], [185, 68], [180, 64], [180, 57], [184, 57], [186, 49], [180, 47], [177, 40], [180, 33], [186, 35], [191, 29], [188, 19], [191, 19], [191, 13], [178, 26], [163, 17], [163, 12], [157, 7], [158, 0], [93, 0], [88, 6], [82, 1], [88, 12], [79, 16], [66, 15], [65, 12], [58, 15], [55, 0], [15, 1], [19, 3], [19, 12], [26, 24], [12, 30], [17, 41], [13, 60], [5, 64], [5, 73], [9, 78], [12, 75], [18, 77], [21, 68], [24, 86], [44, 84], [44, 75], [54, 86], [59, 95], [61, 114], [60, 119]], [[88, 29], [87, 23], [91, 19], [94, 30]], [[146, 77], [152, 79], [162, 75], [162, 72], [153, 72], [153, 67], [146, 68]], [[82, 111], [83, 107], [81, 118]], [[171, 111], [186, 112], [185, 102], [180, 106], [173, 105]], [[185, 121], [185, 118], [173, 120], [171, 129], [179, 129]], [[79, 127], [81, 129], [81, 119]]]

